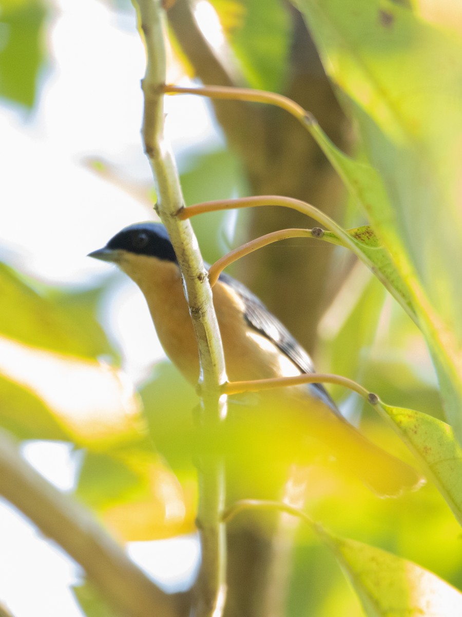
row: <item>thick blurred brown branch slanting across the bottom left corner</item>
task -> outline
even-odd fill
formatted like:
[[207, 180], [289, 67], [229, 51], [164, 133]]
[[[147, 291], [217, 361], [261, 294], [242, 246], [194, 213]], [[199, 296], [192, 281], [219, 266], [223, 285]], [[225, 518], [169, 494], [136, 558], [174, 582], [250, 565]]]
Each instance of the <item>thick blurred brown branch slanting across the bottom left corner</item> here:
[[0, 431], [0, 495], [75, 559], [115, 610], [130, 617], [178, 615], [172, 596], [137, 568], [89, 511], [26, 463], [6, 431]]

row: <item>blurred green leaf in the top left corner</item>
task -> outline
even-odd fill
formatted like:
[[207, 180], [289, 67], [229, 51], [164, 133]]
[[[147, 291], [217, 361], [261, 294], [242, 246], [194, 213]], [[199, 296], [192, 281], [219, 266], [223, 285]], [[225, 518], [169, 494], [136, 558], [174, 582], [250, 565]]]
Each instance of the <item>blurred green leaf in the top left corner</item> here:
[[33, 107], [46, 46], [40, 0], [0, 0], [0, 96]]

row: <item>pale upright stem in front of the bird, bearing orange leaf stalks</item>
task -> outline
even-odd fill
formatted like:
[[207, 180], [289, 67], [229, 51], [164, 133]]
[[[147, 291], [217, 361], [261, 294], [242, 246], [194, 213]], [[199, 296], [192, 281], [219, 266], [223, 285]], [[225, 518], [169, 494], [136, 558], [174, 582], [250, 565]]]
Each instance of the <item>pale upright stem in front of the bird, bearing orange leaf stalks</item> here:
[[[178, 257], [193, 318], [200, 357], [200, 423], [208, 433], [226, 416], [226, 397], [222, 396], [221, 387], [226, 381], [224, 355], [212, 292], [197, 240], [190, 223], [176, 216], [184, 200], [171, 147], [164, 138], [165, 14], [160, 0], [137, 0], [137, 4], [147, 51], [142, 135], [156, 183], [156, 209]], [[221, 458], [203, 457], [198, 463], [198, 476], [200, 497], [197, 521], [202, 560], [193, 615], [219, 617], [225, 595], [225, 529], [219, 516], [225, 490]]]

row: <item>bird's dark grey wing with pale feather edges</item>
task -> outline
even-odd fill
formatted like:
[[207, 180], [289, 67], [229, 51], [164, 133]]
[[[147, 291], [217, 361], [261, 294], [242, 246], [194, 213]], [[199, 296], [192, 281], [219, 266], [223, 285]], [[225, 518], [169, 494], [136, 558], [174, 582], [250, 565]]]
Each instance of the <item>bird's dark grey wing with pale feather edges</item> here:
[[[265, 305], [245, 285], [227, 274], [221, 273], [220, 281], [229, 285], [245, 304], [245, 318], [249, 326], [272, 341], [302, 373], [314, 373], [311, 358], [282, 323], [269, 312]], [[321, 399], [334, 412], [339, 413], [336, 404], [321, 384], [309, 384], [312, 394]]]

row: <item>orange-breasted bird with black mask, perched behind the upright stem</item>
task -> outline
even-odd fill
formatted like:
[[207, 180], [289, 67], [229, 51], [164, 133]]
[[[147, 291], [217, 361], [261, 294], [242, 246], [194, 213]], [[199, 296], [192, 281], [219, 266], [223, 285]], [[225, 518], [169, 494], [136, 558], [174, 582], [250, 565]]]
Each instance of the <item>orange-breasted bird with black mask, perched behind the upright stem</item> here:
[[[200, 375], [197, 341], [174, 247], [162, 223], [134, 223], [89, 257], [117, 265], [140, 288], [164, 352], [196, 385]], [[229, 381], [314, 373], [309, 354], [245, 285], [221, 273], [213, 304]], [[322, 384], [281, 387], [257, 393], [262, 407], [295, 413], [297, 426], [326, 445], [349, 473], [379, 497], [415, 490], [424, 479], [412, 466], [363, 436], [339, 412]], [[239, 397], [237, 397], [239, 399]], [[245, 399], [246, 400], [246, 399]]]

